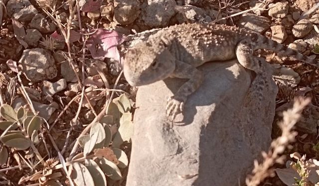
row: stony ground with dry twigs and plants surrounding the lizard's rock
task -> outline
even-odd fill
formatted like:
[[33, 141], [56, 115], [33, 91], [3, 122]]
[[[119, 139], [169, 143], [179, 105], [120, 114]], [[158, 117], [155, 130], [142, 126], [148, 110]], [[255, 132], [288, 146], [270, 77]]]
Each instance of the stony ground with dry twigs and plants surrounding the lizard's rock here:
[[[76, 175], [85, 169], [89, 185], [124, 186], [137, 88], [125, 81], [122, 62], [128, 47], [158, 28], [215, 21], [245, 27], [311, 58], [319, 54], [319, 11], [305, 15], [316, 0], [0, 2], [0, 185], [81, 185]], [[293, 98], [311, 97], [285, 154], [295, 162], [289, 156], [294, 152], [307, 155], [299, 162], [318, 159], [318, 69], [271, 51], [255, 55], [284, 74], [273, 77], [279, 91], [272, 138], [280, 135], [276, 123]], [[95, 176], [102, 171], [107, 177]], [[278, 175], [263, 185], [289, 183]]]

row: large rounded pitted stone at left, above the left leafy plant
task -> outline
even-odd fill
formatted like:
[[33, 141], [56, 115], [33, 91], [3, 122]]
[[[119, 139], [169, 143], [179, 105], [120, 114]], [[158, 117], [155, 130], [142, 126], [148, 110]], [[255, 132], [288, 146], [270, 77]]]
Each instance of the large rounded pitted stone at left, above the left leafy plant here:
[[53, 79], [57, 75], [54, 58], [46, 49], [34, 48], [24, 50], [19, 64], [22, 72], [31, 82]]

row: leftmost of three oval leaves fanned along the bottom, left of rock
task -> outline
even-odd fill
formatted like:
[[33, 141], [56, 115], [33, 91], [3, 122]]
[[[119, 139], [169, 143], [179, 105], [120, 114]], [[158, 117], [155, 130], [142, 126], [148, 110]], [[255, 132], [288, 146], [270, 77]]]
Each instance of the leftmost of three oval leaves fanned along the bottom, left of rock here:
[[77, 186], [94, 186], [93, 178], [83, 164], [73, 163], [70, 177]]

